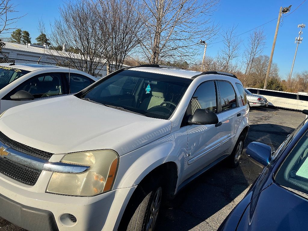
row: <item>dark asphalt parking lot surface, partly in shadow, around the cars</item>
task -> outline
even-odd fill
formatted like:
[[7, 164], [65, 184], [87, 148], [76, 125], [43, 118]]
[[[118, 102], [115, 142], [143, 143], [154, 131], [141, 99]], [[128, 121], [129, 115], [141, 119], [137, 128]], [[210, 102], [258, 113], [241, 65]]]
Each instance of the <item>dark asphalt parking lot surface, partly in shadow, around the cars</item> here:
[[[273, 108], [250, 110], [250, 129], [244, 148], [253, 141], [262, 142], [276, 150], [294, 128], [305, 118], [297, 111]], [[226, 168], [217, 164], [183, 189], [172, 208], [161, 209], [156, 230], [215, 231], [244, 197], [261, 172], [257, 164], [243, 151], [239, 167]], [[0, 217], [0, 231], [24, 231]]]

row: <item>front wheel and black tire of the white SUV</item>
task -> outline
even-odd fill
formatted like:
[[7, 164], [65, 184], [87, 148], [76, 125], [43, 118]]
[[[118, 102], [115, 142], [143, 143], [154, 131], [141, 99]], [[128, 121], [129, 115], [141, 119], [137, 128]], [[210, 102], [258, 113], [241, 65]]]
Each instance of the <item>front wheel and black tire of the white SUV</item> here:
[[[153, 231], [155, 229], [162, 187], [158, 182], [149, 183], [138, 185], [136, 188], [128, 202], [118, 231]], [[152, 221], [151, 224], [150, 221]]]

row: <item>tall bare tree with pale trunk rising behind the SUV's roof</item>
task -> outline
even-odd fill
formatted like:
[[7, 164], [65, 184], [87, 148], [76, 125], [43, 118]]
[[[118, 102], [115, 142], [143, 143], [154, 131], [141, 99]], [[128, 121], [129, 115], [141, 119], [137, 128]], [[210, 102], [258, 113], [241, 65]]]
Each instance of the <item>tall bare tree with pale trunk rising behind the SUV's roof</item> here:
[[196, 42], [211, 38], [217, 30], [209, 14], [217, 0], [143, 0], [146, 6], [147, 38], [142, 43], [151, 64], [194, 57], [200, 49]]

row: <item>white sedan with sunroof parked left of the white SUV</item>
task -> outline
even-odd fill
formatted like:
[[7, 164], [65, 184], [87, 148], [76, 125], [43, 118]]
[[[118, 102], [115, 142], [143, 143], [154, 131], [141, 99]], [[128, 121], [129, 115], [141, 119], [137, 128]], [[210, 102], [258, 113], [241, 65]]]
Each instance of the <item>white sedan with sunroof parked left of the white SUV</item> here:
[[97, 81], [83, 71], [34, 63], [0, 63], [0, 112], [76, 93]]

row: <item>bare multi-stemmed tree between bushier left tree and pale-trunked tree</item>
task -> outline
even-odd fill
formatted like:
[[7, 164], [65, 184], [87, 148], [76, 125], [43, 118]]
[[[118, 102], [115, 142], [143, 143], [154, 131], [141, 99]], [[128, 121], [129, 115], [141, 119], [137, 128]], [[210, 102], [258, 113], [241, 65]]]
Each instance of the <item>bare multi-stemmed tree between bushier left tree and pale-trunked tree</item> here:
[[144, 7], [138, 0], [99, 0], [96, 8], [99, 30], [105, 36], [101, 46], [109, 72], [122, 67], [125, 58], [144, 37]]

